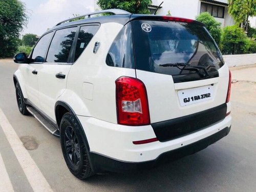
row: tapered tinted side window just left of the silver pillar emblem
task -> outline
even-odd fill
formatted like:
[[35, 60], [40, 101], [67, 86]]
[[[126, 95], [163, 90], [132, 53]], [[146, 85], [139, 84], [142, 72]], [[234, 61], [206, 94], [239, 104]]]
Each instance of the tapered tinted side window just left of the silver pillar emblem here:
[[86, 49], [87, 45], [93, 38], [93, 36], [98, 31], [99, 26], [82, 26], [80, 28], [77, 43], [76, 43], [76, 51], [75, 51], [75, 61], [81, 55], [84, 49]]

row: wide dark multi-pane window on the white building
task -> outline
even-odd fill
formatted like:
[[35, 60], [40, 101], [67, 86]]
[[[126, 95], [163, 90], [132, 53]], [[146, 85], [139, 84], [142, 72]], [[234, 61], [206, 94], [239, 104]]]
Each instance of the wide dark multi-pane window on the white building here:
[[214, 17], [224, 18], [224, 10], [223, 6], [201, 3], [200, 13], [208, 12]]

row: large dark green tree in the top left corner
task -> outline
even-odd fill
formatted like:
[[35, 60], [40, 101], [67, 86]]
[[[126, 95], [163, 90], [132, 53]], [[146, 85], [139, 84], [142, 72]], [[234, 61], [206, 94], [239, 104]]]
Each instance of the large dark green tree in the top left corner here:
[[10, 57], [17, 50], [19, 33], [26, 26], [25, 5], [18, 0], [0, 1], [0, 57]]

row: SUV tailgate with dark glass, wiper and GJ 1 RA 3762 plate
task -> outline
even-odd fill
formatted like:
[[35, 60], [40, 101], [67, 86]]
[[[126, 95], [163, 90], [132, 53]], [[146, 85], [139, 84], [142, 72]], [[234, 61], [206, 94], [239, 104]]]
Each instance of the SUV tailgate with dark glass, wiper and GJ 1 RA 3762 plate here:
[[225, 103], [228, 68], [204, 26], [134, 20], [132, 27], [136, 76], [146, 87], [151, 123]]

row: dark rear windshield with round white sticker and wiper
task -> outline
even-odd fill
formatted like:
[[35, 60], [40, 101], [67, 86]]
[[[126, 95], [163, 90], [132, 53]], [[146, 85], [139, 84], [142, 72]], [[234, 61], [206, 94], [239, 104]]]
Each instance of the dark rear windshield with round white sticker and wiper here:
[[174, 82], [218, 77], [221, 53], [204, 26], [154, 20], [132, 22], [137, 70], [172, 75]]

